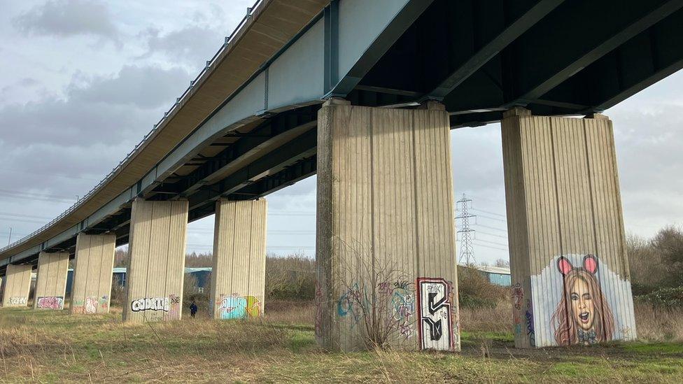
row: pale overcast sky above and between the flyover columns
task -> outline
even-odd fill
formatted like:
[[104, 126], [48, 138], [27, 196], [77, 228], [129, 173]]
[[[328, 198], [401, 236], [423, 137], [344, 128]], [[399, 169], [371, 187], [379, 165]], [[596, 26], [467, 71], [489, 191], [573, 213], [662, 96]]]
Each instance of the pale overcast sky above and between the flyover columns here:
[[[92, 188], [159, 120], [253, 0], [0, 0], [0, 245]], [[683, 218], [683, 73], [606, 111], [627, 232]], [[455, 197], [473, 199], [475, 258], [507, 259], [500, 125], [451, 131]], [[268, 250], [314, 255], [315, 177], [269, 200]], [[211, 250], [213, 216], [188, 227]]]

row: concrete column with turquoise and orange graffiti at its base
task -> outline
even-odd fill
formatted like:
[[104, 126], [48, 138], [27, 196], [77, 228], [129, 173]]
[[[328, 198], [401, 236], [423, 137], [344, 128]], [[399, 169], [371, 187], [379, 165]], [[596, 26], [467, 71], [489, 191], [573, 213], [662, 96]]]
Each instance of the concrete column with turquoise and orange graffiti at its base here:
[[266, 269], [265, 199], [216, 202], [211, 316], [255, 318], [263, 313]]

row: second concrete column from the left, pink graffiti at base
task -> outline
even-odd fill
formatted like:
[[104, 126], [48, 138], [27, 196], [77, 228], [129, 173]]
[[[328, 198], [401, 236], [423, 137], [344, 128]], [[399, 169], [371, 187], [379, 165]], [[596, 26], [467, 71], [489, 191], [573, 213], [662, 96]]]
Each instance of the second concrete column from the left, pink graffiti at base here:
[[64, 309], [69, 253], [38, 254], [34, 309]]

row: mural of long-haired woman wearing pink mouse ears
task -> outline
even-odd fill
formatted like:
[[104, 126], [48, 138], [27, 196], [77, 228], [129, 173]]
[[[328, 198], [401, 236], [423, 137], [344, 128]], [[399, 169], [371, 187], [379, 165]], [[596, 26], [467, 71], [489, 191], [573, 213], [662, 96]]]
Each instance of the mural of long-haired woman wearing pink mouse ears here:
[[612, 340], [614, 315], [596, 278], [598, 258], [586, 255], [583, 266], [575, 267], [561, 256], [557, 267], [564, 280], [562, 299], [551, 318], [551, 324], [557, 324], [558, 346], [588, 346]]

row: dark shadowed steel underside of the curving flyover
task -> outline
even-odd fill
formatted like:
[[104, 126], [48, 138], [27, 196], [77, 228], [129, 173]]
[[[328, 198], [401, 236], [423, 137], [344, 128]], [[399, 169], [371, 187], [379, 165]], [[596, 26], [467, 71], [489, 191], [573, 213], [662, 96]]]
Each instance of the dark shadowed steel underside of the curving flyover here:
[[[118, 245], [127, 243], [134, 197], [188, 199], [192, 221], [211, 215], [218, 199], [256, 199], [313, 175], [317, 114], [332, 95], [372, 107], [441, 101], [457, 128], [500, 121], [512, 106], [533, 115], [603, 111], [683, 66], [682, 1], [434, 0], [407, 1], [346, 70], [339, 57], [348, 45], [342, 32], [358, 25], [344, 24], [344, 1], [355, 0], [333, 1], [276, 55], [287, 55], [322, 23], [325, 52], [314, 52], [324, 53], [318, 96], [268, 108], [266, 83], [258, 113], [237, 126], [224, 123], [220, 134], [197, 141], [171, 169], [148, 173], [152, 183], [141, 180], [129, 188], [129, 198], [108, 203], [112, 208], [96, 224], [80, 222], [69, 229], [73, 234], [43, 241], [42, 250], [73, 254], [78, 232], [112, 232]], [[267, 79], [268, 65], [249, 81], [264, 71]], [[11, 262], [36, 264], [38, 248], [24, 248]]]

